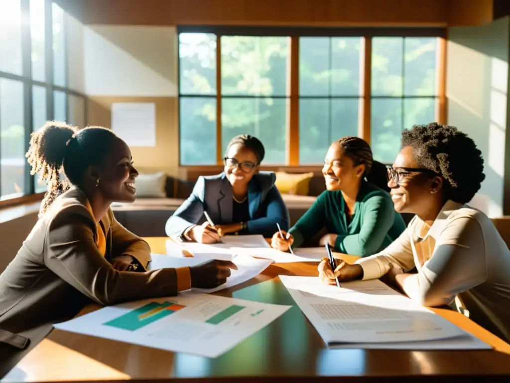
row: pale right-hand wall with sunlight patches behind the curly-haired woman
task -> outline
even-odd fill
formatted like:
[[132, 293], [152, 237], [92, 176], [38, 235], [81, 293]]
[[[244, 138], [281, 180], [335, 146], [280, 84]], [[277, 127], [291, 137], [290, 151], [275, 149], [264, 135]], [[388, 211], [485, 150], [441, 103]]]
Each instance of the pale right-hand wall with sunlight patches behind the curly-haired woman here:
[[471, 205], [503, 214], [508, 91], [509, 18], [448, 31], [448, 124], [466, 132], [483, 153], [486, 180]]

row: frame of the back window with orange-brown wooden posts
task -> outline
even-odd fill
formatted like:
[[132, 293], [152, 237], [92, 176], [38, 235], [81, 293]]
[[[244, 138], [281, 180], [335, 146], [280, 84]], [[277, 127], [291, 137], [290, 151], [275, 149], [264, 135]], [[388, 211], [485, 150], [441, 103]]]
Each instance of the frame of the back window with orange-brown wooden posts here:
[[[221, 100], [225, 97], [221, 94], [221, 36], [286, 36], [290, 37], [290, 65], [287, 71], [288, 84], [290, 92], [287, 95], [289, 100], [287, 108], [288, 124], [286, 131], [286, 161], [282, 166], [301, 166], [299, 163], [299, 101], [300, 99], [310, 99], [312, 97], [300, 96], [299, 94], [299, 38], [300, 37], [361, 37], [361, 57], [360, 57], [360, 107], [359, 107], [359, 126], [358, 135], [370, 143], [371, 141], [371, 102], [372, 96], [372, 38], [373, 37], [437, 37], [438, 62], [437, 75], [438, 84], [436, 86], [437, 95], [431, 96], [436, 101], [436, 120], [446, 123], [446, 28], [435, 27], [367, 27], [367, 28], [298, 28], [298, 27], [238, 27], [238, 26], [178, 26], [177, 41], [181, 33], [211, 33], [216, 35], [216, 96], [199, 95], [200, 97], [216, 97], [216, 165], [186, 165], [181, 162], [179, 156], [179, 166], [185, 168], [211, 168], [222, 165], [223, 153], [221, 152], [222, 129], [221, 129]], [[177, 47], [179, 52], [179, 47]], [[177, 57], [177, 88], [179, 97], [178, 127], [181, 132], [181, 97], [192, 97], [190, 94], [181, 93], [181, 70], [180, 57]], [[197, 95], [198, 96], [198, 95]], [[321, 97], [314, 97], [321, 98]], [[330, 99], [330, 96], [322, 97]], [[337, 97], [334, 97], [337, 98]], [[344, 98], [344, 97], [339, 97]], [[378, 97], [377, 97], [378, 98]], [[405, 97], [402, 96], [402, 100]], [[422, 98], [422, 97], [420, 97]], [[179, 139], [179, 151], [181, 153], [181, 139]], [[269, 167], [274, 167], [272, 165]], [[313, 166], [303, 164], [302, 166]]]

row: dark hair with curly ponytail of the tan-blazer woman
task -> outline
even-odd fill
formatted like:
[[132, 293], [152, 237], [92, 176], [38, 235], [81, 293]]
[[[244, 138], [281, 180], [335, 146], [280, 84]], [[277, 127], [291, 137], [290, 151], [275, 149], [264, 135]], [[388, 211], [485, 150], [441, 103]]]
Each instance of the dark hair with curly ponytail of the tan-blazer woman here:
[[[106, 128], [78, 130], [57, 121], [48, 121], [32, 133], [30, 148], [25, 155], [32, 167], [30, 174], [38, 174], [41, 181], [48, 184], [39, 217], [71, 185], [81, 185], [87, 167], [101, 162], [116, 137]], [[66, 179], [61, 179], [62, 171]]]

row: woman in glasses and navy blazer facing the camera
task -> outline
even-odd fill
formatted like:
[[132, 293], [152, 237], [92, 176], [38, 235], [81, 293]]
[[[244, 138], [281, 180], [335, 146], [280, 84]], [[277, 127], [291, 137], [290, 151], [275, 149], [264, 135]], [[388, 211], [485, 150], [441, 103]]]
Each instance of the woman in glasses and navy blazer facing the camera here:
[[258, 138], [234, 137], [228, 143], [223, 173], [198, 178], [191, 196], [168, 219], [167, 235], [211, 244], [225, 234], [271, 236], [276, 223], [287, 230], [289, 212], [274, 186], [276, 176], [259, 171], [264, 154]]

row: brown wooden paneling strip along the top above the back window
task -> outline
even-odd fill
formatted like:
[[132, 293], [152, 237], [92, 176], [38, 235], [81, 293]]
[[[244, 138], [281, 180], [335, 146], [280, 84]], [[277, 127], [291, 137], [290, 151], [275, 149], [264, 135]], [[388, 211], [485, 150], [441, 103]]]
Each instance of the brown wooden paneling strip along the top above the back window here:
[[85, 24], [108, 25], [446, 26], [452, 14], [452, 0], [56, 1]]

